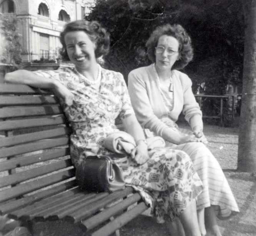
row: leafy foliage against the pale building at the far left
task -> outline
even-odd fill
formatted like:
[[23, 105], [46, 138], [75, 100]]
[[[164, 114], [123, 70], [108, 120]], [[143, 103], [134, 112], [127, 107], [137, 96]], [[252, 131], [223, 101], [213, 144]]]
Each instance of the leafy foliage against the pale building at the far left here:
[[10, 70], [17, 70], [23, 67], [22, 46], [20, 40], [22, 35], [18, 33], [16, 16], [1, 16], [1, 45], [0, 61], [7, 63]]

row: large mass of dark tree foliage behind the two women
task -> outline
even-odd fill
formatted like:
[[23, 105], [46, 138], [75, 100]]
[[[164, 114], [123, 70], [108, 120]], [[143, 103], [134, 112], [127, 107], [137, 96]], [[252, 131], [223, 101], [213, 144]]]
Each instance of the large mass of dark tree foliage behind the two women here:
[[190, 34], [194, 60], [185, 68], [193, 85], [222, 95], [229, 82], [241, 83], [243, 4], [233, 0], [97, 0], [87, 20], [98, 20], [111, 33], [107, 66], [126, 76], [149, 65], [145, 43], [158, 25], [181, 24]]

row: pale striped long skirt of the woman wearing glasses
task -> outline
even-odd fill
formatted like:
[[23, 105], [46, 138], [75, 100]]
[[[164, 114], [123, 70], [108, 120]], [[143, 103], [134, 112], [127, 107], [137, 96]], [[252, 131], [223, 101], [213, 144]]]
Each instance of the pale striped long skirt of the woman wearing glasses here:
[[[178, 130], [183, 135], [193, 134], [183, 128], [178, 128]], [[166, 141], [166, 146], [185, 151], [190, 156], [194, 168], [203, 182], [204, 190], [198, 196], [197, 209], [214, 205], [219, 219], [229, 219], [239, 212], [236, 200], [218, 161], [203, 143], [192, 142], [175, 145]]]

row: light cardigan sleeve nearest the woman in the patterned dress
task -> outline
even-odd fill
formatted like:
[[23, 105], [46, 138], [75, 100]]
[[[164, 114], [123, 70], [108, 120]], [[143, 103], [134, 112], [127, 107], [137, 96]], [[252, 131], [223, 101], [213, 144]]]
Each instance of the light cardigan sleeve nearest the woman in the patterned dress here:
[[159, 120], [153, 112], [148, 98], [146, 83], [142, 78], [147, 76], [146, 71], [143, 71], [143, 75], [137, 72], [138, 69], [131, 71], [128, 75], [128, 91], [131, 98], [131, 105], [142, 128], [147, 128], [156, 135], [162, 136], [163, 130], [168, 128], [168, 126]]

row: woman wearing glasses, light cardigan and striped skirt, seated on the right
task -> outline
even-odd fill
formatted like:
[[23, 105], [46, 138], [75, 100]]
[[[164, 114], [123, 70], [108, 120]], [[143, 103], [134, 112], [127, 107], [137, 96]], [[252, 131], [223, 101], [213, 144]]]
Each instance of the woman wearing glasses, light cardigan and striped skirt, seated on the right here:
[[[191, 90], [192, 82], [178, 71], [193, 58], [190, 37], [181, 25], [167, 24], [153, 31], [146, 47], [153, 64], [128, 76], [135, 114], [147, 137], [161, 136], [166, 146], [190, 156], [204, 184], [197, 199], [201, 234], [205, 235], [207, 228], [208, 235], [221, 236], [215, 212], [218, 218], [227, 219], [239, 209], [218, 161], [205, 146], [202, 113]], [[193, 132], [176, 125], [181, 111]]]

